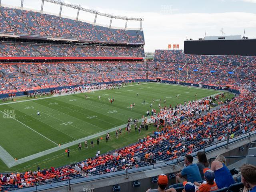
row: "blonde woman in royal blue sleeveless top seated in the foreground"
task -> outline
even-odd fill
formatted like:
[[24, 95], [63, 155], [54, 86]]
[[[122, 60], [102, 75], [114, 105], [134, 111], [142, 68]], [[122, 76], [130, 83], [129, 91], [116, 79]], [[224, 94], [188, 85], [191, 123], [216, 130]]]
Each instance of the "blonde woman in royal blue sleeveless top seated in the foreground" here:
[[219, 189], [229, 187], [235, 181], [226, 167], [226, 158], [223, 155], [218, 155], [212, 162], [211, 170], [215, 173], [215, 182]]

